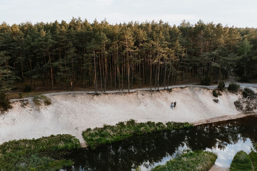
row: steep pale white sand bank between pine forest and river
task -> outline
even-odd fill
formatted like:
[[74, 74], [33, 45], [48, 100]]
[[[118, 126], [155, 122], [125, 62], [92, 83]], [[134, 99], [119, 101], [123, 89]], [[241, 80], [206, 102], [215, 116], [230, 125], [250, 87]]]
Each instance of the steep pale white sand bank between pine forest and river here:
[[[119, 121], [137, 122], [197, 122], [225, 115], [236, 115], [234, 101], [241, 98], [224, 91], [214, 103], [212, 89], [200, 87], [166, 90], [138, 90], [130, 93], [56, 93], [46, 94], [50, 106], [36, 107], [32, 98], [29, 105], [13, 102], [13, 109], [0, 115], [0, 144], [14, 139], [32, 139], [42, 136], [71, 134], [81, 143], [82, 131], [87, 128], [115, 125]], [[177, 101], [176, 108], [170, 103]]]

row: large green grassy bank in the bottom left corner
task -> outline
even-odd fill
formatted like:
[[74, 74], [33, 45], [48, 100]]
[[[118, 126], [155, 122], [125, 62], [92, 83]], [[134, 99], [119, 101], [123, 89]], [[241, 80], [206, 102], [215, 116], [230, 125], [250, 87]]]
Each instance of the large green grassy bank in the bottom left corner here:
[[0, 145], [0, 170], [59, 170], [74, 164], [71, 160], [63, 159], [63, 156], [79, 147], [79, 140], [67, 134], [9, 141]]

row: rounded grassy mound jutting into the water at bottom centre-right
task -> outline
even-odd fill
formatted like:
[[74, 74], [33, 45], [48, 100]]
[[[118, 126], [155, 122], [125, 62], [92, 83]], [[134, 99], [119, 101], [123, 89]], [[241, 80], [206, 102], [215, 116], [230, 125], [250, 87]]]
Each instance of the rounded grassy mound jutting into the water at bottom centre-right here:
[[208, 171], [216, 159], [217, 155], [209, 151], [189, 151], [151, 171]]

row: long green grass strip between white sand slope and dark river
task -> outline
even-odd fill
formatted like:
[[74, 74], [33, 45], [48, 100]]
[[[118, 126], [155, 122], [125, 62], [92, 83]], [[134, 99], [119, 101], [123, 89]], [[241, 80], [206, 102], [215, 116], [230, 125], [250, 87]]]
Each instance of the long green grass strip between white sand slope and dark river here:
[[110, 144], [132, 137], [134, 134], [142, 135], [144, 133], [152, 133], [157, 131], [174, 130], [191, 128], [193, 125], [189, 123], [168, 122], [164, 125], [161, 122], [154, 123], [136, 123], [134, 120], [119, 122], [115, 126], [104, 125], [102, 128], [87, 129], [83, 131], [82, 136], [92, 149], [103, 144]]

